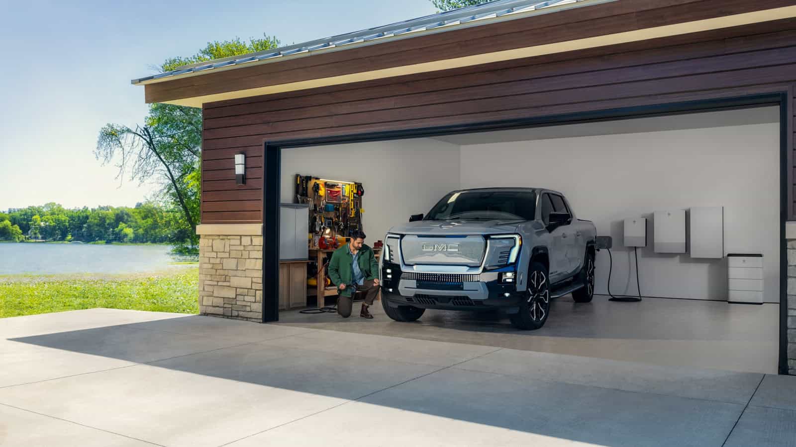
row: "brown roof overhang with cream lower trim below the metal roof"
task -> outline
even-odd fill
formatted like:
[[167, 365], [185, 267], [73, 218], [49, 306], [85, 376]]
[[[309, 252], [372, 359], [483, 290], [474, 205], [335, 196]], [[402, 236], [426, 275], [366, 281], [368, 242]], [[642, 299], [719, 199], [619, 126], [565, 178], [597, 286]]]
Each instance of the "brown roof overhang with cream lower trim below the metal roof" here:
[[[227, 99], [349, 84], [393, 76], [594, 49], [796, 17], [793, 0], [674, 0], [665, 7], [638, 0], [584, 0], [578, 10], [494, 17], [396, 36], [378, 44], [305, 51], [278, 59], [142, 80], [147, 103], [201, 107]], [[657, 2], [658, 5], [661, 2]], [[564, 8], [566, 5], [561, 6]], [[568, 27], [568, 33], [552, 33]], [[562, 39], [567, 35], [572, 38]], [[545, 37], [548, 37], [547, 39]], [[558, 36], [558, 37], [556, 37]]]

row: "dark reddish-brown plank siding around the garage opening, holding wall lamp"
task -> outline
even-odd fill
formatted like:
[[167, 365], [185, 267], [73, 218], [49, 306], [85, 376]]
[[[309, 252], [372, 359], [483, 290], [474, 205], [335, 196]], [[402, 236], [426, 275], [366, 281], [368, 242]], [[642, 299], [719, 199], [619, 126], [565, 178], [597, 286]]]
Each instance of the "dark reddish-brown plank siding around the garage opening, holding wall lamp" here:
[[[708, 14], [699, 7], [706, 2], [638, 0], [636, 3], [650, 8], [689, 3], [693, 6], [690, 14], [696, 14], [690, 17]], [[723, 3], [733, 10], [755, 2]], [[616, 2], [616, 7], [626, 4]], [[761, 8], [755, 4], [755, 9]], [[585, 14], [587, 10], [579, 9], [576, 14]], [[544, 20], [558, 23], [566, 19], [566, 14], [569, 13], [548, 14]], [[657, 16], [644, 14], [636, 11], [634, 24], [641, 17], [647, 17], [646, 21], [654, 21], [654, 17], [664, 20], [660, 11]], [[598, 23], [599, 17], [589, 18], [594, 20], [590, 25]], [[615, 29], [620, 27], [616, 17], [605, 16], [600, 20], [613, 23]], [[507, 36], [513, 32], [509, 23], [504, 24], [508, 27]], [[568, 38], [583, 31], [567, 29], [567, 33], [572, 33]], [[474, 28], [469, 32], [482, 31]], [[605, 32], [606, 29], [599, 30]], [[415, 45], [414, 41], [402, 41], [401, 45]], [[224, 76], [242, 76], [245, 71], [233, 70]], [[193, 79], [191, 83], [209, 82], [205, 77], [209, 75], [189, 79]], [[796, 19], [786, 19], [447, 71], [205, 103], [201, 221], [261, 222], [263, 142], [266, 141], [792, 92], [794, 84]], [[180, 88], [189, 94], [192, 87], [186, 84]], [[791, 114], [796, 108], [796, 98], [793, 103]], [[796, 115], [791, 116], [793, 119], [788, 124], [792, 133], [791, 121], [796, 121]], [[790, 147], [796, 150], [792, 144], [791, 140]], [[232, 155], [237, 153], [247, 154], [248, 181], [241, 187], [235, 185], [232, 166]], [[794, 155], [792, 162], [796, 154], [790, 155]], [[796, 185], [789, 190], [789, 219], [794, 216], [794, 189]]]

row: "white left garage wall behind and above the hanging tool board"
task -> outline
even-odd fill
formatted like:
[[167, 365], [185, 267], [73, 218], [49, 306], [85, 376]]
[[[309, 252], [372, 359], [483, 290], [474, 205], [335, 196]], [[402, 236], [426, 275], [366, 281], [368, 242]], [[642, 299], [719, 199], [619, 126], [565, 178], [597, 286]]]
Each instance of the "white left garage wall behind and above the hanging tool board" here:
[[430, 138], [317, 146], [282, 151], [281, 200], [295, 203], [295, 174], [358, 181], [369, 244], [396, 223], [428, 212], [458, 189], [459, 148]]

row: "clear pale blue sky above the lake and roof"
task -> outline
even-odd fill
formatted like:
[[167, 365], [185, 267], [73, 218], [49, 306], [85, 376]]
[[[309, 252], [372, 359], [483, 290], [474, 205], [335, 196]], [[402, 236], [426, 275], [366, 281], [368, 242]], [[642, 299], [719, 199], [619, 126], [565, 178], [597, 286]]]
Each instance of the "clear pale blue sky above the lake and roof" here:
[[429, 0], [0, 0], [0, 10], [0, 210], [133, 206], [150, 194], [151, 185], [120, 187], [93, 150], [106, 122], [141, 122], [143, 87], [130, 80], [169, 56], [263, 33], [288, 45], [435, 12]]

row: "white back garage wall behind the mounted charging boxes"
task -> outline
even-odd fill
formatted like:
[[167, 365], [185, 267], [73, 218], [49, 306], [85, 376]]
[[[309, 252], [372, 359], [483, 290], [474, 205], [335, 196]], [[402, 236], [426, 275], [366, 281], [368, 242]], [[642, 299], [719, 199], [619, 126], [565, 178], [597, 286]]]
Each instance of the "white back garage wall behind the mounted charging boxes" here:
[[[725, 259], [658, 255], [652, 213], [724, 206], [725, 253], [763, 253], [765, 301], [778, 302], [778, 124], [641, 134], [610, 134], [461, 146], [462, 188], [537, 186], [564, 192], [581, 219], [614, 238], [611, 292], [635, 293], [632, 249], [622, 221], [648, 218], [639, 249], [642, 295], [727, 299]], [[606, 293], [608, 255], [597, 259], [597, 293]]]

